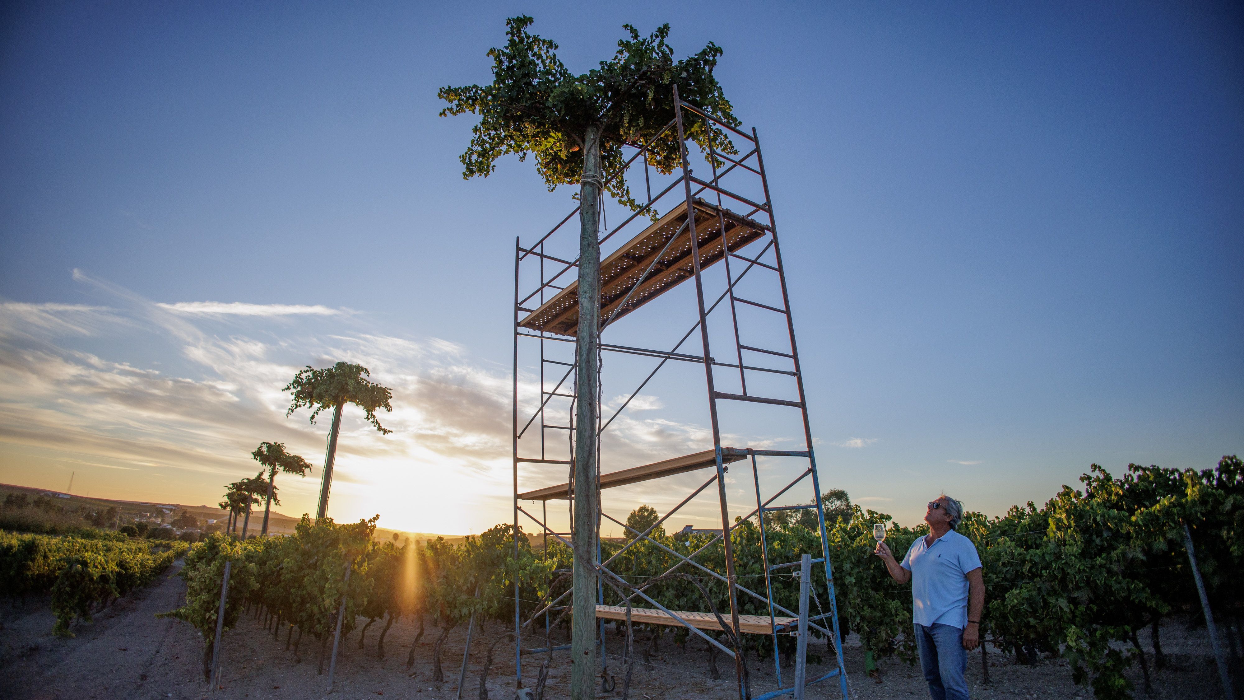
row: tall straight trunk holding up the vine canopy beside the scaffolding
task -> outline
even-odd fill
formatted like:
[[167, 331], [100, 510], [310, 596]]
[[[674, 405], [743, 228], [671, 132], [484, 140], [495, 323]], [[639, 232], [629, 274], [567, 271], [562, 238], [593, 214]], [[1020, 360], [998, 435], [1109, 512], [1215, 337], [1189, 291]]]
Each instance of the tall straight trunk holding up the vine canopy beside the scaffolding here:
[[601, 316], [600, 128], [583, 135], [578, 208], [578, 330], [575, 345], [575, 547], [573, 618], [570, 643], [571, 700], [596, 698], [596, 372]]

